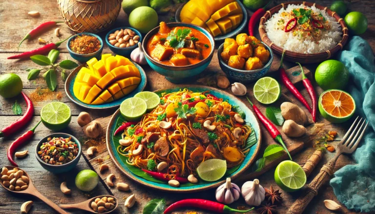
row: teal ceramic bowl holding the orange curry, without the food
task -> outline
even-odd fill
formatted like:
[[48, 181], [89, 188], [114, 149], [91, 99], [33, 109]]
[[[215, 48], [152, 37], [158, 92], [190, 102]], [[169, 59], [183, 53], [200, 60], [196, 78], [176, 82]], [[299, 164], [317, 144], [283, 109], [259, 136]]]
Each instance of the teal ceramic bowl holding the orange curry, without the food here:
[[[202, 27], [199, 27], [194, 24], [187, 24], [182, 22], [172, 22], [167, 23], [168, 27], [177, 27], [177, 26], [183, 26], [183, 27], [191, 27], [194, 28], [201, 33], [203, 33], [206, 37], [208, 37], [209, 41], [211, 42], [212, 50], [209, 53], [208, 57], [203, 59], [202, 61], [198, 62], [194, 65], [186, 65], [186, 66], [171, 66], [171, 65], [165, 65], [160, 63], [159, 61], [152, 58], [150, 55], [148, 55], [147, 51], [145, 51], [146, 55], [146, 61], [148, 65], [158, 72], [159, 74], [166, 77], [166, 79], [172, 83], [182, 83], [191, 80], [191, 77], [194, 77], [200, 73], [202, 73], [207, 67], [208, 64], [211, 62], [211, 59], [213, 57], [213, 53], [215, 52], [215, 41], [210, 33]], [[147, 41], [148, 39], [152, 39], [151, 37], [155, 35], [159, 31], [160, 26], [152, 29], [150, 32], [147, 33], [144, 41], [142, 43], [142, 47], [144, 50], [147, 50]]]

